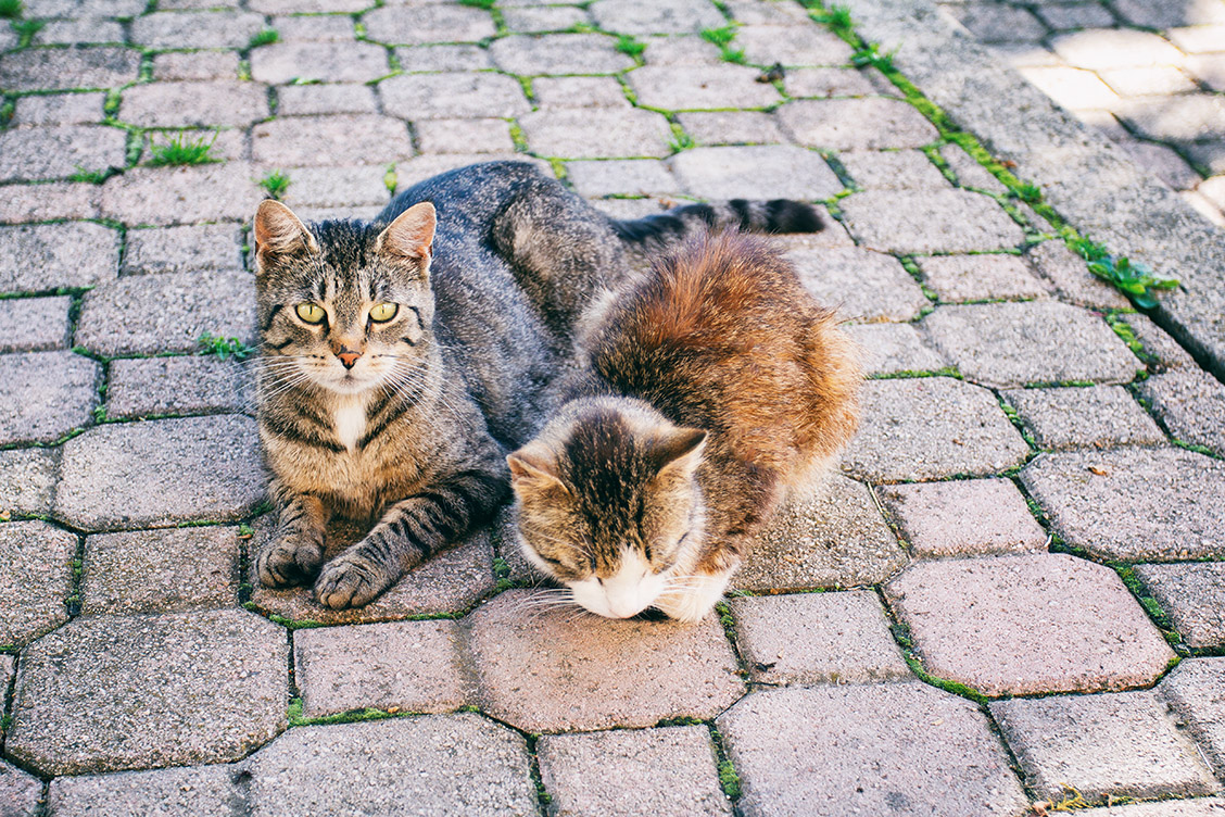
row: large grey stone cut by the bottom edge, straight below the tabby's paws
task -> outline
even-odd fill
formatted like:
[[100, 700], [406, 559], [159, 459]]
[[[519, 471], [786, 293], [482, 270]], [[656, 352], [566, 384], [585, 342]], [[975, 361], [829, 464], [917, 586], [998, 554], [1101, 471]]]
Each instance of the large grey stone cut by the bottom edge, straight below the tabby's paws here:
[[247, 768], [252, 817], [537, 813], [523, 739], [468, 713], [301, 726]]

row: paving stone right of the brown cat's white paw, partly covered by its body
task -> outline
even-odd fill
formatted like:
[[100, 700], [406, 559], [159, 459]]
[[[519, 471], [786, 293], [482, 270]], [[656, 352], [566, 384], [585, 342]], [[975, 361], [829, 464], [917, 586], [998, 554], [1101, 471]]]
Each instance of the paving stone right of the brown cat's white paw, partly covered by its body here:
[[737, 590], [866, 587], [907, 562], [869, 489], [843, 476], [790, 499], [746, 550]]

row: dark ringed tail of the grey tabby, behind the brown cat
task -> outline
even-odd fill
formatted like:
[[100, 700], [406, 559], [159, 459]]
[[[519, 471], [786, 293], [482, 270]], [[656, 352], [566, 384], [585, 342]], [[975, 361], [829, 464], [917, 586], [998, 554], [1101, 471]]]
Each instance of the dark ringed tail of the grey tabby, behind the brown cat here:
[[681, 205], [644, 218], [612, 220], [612, 230], [624, 241], [648, 249], [663, 249], [693, 233], [728, 227], [746, 233], [817, 233], [824, 223], [812, 205], [790, 198]]

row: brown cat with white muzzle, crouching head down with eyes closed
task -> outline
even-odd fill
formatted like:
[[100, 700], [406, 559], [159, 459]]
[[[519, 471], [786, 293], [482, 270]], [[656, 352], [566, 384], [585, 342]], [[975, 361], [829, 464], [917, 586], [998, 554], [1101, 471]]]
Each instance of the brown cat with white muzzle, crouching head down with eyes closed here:
[[696, 621], [858, 423], [858, 352], [764, 239], [691, 241], [604, 303], [587, 371], [507, 458], [527, 559], [608, 617]]

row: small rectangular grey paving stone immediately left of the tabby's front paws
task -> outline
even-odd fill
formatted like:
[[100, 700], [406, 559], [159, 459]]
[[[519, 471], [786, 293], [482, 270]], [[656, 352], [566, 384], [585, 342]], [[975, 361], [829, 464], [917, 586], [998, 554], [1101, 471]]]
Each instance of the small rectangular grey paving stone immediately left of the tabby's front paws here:
[[238, 529], [227, 525], [87, 537], [86, 615], [180, 612], [238, 604]]

